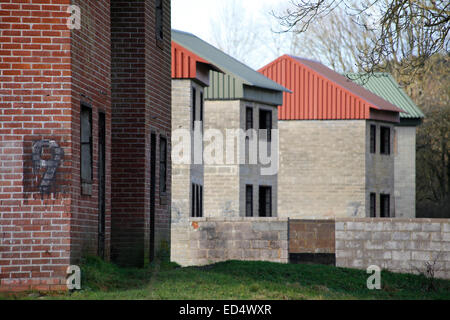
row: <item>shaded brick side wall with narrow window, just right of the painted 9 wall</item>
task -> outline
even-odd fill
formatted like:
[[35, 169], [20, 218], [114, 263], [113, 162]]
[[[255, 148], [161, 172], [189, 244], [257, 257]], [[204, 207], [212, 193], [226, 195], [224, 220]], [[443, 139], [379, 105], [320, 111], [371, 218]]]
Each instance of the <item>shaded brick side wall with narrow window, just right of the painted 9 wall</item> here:
[[[110, 194], [111, 194], [111, 41], [108, 0], [77, 0], [72, 4], [81, 9], [81, 29], [71, 33], [72, 61], [72, 132], [74, 166], [72, 175], [71, 261], [77, 264], [85, 254], [96, 255], [98, 251], [99, 193], [98, 193], [98, 139], [99, 112], [105, 114], [106, 122], [106, 243], [109, 257], [110, 246]], [[92, 195], [82, 195], [80, 185], [80, 109], [81, 103], [92, 108]]]

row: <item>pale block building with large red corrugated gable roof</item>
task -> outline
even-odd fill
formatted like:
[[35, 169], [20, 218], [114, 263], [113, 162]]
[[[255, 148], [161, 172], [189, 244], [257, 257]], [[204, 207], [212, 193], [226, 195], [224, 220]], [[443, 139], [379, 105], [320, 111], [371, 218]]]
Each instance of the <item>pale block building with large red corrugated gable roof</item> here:
[[259, 71], [293, 92], [279, 109], [278, 215], [395, 216], [403, 110], [308, 59], [284, 55]]

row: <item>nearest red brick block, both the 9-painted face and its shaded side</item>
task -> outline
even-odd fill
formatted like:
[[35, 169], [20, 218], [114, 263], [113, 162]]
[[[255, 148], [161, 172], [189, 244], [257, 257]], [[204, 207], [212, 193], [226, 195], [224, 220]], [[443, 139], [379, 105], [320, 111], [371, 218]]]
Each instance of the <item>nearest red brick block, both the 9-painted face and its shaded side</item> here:
[[[67, 28], [70, 4], [81, 9], [80, 30]], [[109, 1], [11, 0], [0, 12], [1, 290], [65, 290], [67, 266], [97, 253], [96, 124], [104, 111], [109, 136]], [[81, 102], [93, 110], [92, 196], [80, 192]], [[33, 171], [32, 147], [43, 140], [64, 152], [48, 192], [39, 186], [46, 169]], [[51, 160], [49, 145], [42, 152]], [[108, 201], [106, 215], [108, 222]], [[107, 225], [107, 247], [108, 238]]]

